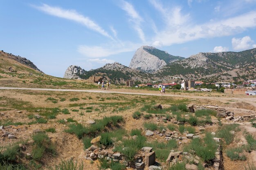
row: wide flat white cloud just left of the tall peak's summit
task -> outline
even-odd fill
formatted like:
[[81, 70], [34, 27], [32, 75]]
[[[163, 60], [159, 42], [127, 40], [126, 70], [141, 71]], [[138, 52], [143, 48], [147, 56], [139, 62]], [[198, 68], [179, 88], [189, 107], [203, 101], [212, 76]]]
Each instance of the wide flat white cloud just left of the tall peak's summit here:
[[108, 57], [124, 52], [130, 52], [137, 50], [143, 44], [136, 44], [132, 42], [112, 42], [108, 44], [101, 44], [101, 46], [87, 46], [80, 45], [78, 52], [85, 55], [85, 57], [98, 58]]

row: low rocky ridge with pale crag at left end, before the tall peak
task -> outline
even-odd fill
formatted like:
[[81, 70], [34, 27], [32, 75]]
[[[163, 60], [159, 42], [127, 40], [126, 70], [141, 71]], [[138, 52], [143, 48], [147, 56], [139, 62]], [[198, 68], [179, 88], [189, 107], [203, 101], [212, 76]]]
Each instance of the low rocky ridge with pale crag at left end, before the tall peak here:
[[115, 84], [125, 84], [128, 79], [137, 82], [150, 82], [152, 81], [150, 77], [153, 77], [149, 73], [129, 68], [118, 62], [106, 64], [101, 68], [90, 71], [85, 71], [79, 66], [69, 66], [64, 74], [64, 78], [72, 79], [92, 79], [95, 76], [101, 76]]

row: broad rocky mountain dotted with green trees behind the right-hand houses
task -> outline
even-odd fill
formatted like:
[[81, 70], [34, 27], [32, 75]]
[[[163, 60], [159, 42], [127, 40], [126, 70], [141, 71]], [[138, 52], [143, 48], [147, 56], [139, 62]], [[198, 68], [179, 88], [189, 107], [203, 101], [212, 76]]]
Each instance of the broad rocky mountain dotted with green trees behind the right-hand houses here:
[[256, 49], [241, 52], [198, 53], [162, 67], [155, 75], [207, 81], [256, 78]]

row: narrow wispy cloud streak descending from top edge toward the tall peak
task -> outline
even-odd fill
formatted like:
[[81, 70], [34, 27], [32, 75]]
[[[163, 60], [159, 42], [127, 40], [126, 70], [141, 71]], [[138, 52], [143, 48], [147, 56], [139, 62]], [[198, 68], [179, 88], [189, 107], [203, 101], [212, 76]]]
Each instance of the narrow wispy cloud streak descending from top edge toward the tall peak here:
[[126, 11], [126, 13], [130, 16], [130, 21], [133, 22], [133, 28], [135, 29], [135, 31], [137, 31], [141, 41], [145, 42], [145, 34], [141, 29], [141, 22], [143, 22], [143, 19], [141, 18], [139, 13], [134, 9], [132, 4], [124, 0], [121, 3], [121, 9]]

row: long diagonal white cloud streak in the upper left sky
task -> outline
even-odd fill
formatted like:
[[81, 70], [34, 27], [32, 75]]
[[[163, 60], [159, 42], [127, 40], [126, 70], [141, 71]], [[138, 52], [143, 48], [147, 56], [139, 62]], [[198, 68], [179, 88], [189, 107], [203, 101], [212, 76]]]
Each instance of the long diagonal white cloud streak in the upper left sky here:
[[98, 24], [96, 24], [94, 21], [92, 21], [89, 17], [85, 17], [79, 13], [77, 13], [75, 10], [68, 10], [68, 9], [62, 9], [60, 7], [51, 7], [47, 4], [43, 4], [42, 6], [34, 6], [32, 7], [43, 11], [49, 15], [54, 15], [59, 18], [65, 18], [67, 20], [72, 20], [75, 22], [79, 22], [83, 24], [84, 26], [88, 27], [89, 29], [92, 29], [93, 31], [96, 31], [100, 33], [101, 35], [104, 35], [108, 38], [113, 39], [104, 29], [102, 29]]

